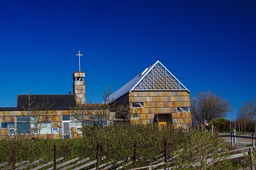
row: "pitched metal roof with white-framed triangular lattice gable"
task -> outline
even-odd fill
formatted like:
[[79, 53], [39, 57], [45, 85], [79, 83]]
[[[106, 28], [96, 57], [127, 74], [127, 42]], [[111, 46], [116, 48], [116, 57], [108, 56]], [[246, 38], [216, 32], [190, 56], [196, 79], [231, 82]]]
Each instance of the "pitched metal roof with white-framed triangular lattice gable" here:
[[123, 87], [112, 93], [109, 98], [117, 100], [132, 90], [187, 90], [189, 92], [160, 61], [146, 68]]

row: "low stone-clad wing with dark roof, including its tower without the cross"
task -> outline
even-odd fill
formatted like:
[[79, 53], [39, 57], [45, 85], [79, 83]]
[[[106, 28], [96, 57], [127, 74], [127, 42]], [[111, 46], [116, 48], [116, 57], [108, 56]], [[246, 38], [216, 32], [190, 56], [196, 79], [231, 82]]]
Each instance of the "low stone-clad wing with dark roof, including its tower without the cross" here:
[[82, 122], [71, 114], [78, 104], [85, 104], [84, 72], [73, 73], [73, 94], [18, 95], [17, 107], [0, 108], [0, 136], [80, 138]]

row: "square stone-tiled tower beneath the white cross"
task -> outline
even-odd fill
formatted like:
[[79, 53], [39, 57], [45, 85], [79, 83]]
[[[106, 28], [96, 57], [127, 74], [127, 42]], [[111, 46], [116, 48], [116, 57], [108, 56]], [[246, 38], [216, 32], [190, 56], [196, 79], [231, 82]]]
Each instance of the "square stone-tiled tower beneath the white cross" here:
[[85, 104], [85, 74], [83, 71], [73, 73], [73, 94], [76, 98], [76, 104]]

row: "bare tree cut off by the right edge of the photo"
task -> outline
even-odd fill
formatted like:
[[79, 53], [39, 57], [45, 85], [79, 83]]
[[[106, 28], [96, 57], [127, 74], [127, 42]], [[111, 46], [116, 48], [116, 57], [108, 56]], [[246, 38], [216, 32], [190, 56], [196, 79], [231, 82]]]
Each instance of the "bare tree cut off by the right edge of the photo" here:
[[238, 121], [256, 122], [256, 96], [241, 104], [236, 119]]

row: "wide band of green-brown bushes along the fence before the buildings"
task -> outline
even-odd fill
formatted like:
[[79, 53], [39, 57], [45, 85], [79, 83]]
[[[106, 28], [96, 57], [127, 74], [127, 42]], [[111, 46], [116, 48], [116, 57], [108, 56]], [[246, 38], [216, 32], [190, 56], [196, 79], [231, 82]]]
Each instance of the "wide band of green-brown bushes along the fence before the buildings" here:
[[[231, 170], [246, 165], [243, 160], [224, 160], [207, 162], [208, 158], [224, 157], [228, 155], [226, 143], [217, 135], [199, 131], [173, 130], [172, 127], [159, 128], [148, 125], [123, 125], [112, 127], [108, 131], [99, 131], [90, 127], [84, 129], [84, 139], [1, 139], [0, 163], [8, 162], [12, 165], [12, 146], [16, 146], [16, 162], [40, 158], [44, 162], [53, 160], [53, 144], [57, 145], [57, 158], [64, 157], [64, 161], [79, 157], [96, 158], [97, 142], [100, 141], [100, 155], [106, 156], [104, 162], [117, 162], [134, 155], [134, 143], [137, 140], [138, 161], [126, 169], [146, 166], [145, 160], [164, 153], [164, 141], [168, 137], [168, 157], [173, 158], [172, 166], [176, 169], [221, 169]], [[199, 162], [198, 166], [192, 166]], [[185, 168], [186, 167], [186, 168]]]

